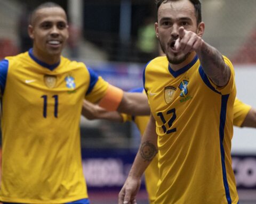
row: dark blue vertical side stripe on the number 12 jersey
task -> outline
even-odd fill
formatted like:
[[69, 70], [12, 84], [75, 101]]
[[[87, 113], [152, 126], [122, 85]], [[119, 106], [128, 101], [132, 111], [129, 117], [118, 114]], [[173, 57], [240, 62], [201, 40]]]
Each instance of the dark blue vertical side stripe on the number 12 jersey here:
[[227, 112], [227, 103], [228, 103], [229, 95], [221, 96], [221, 111], [220, 111], [220, 152], [221, 152], [221, 165], [222, 165], [222, 176], [223, 176], [223, 184], [225, 187], [226, 198], [228, 204], [231, 204], [231, 197], [229, 193], [229, 186], [227, 180], [227, 172], [226, 172], [226, 165], [225, 165], [225, 149], [223, 147], [223, 139], [224, 139], [224, 129], [226, 123], [226, 112]]

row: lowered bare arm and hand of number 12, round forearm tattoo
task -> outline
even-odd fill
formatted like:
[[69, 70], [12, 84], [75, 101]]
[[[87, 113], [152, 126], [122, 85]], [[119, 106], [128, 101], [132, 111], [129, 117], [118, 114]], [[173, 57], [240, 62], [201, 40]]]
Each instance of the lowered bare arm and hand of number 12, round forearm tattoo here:
[[154, 117], [150, 115], [149, 123], [141, 139], [141, 145], [132, 168], [123, 188], [119, 192], [118, 204], [136, 202], [136, 194], [140, 189], [141, 176], [157, 154], [157, 151], [156, 121]]

